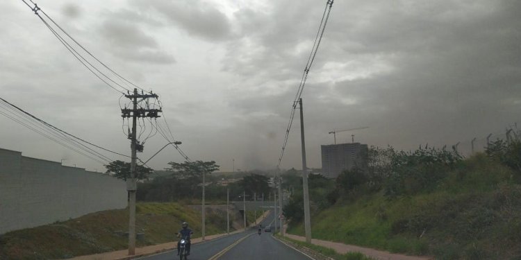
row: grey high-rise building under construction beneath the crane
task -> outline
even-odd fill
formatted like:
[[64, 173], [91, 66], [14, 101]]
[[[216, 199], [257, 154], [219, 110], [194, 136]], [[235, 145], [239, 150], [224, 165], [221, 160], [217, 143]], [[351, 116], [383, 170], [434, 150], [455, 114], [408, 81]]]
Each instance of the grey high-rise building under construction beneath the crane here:
[[367, 144], [329, 144], [322, 148], [322, 175], [336, 178], [342, 171], [367, 164]]

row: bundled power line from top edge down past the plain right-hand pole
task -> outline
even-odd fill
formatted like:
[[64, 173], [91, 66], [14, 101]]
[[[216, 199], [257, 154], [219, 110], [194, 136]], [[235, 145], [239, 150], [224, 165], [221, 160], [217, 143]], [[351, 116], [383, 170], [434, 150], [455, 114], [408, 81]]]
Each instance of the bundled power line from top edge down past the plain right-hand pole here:
[[322, 36], [324, 35], [324, 30], [326, 29], [326, 24], [329, 19], [329, 13], [331, 12], [331, 7], [333, 7], [333, 0], [327, 0], [326, 8], [324, 9], [324, 13], [322, 14], [322, 19], [320, 21], [320, 26], [318, 27], [317, 35], [315, 36], [315, 42], [313, 43], [313, 48], [311, 49], [311, 53], [308, 57], [308, 62], [306, 62], [306, 67], [304, 69], [304, 73], [302, 73], [302, 77], [299, 84], [299, 89], [297, 89], [297, 94], [295, 94], [295, 99], [293, 100], [293, 104], [290, 112], [290, 120], [288, 121], [288, 127], [286, 128], [286, 135], [284, 137], [281, 155], [279, 157], [279, 163], [277, 164], [277, 168], [281, 166], [282, 157], [284, 156], [284, 151], [286, 150], [286, 145], [288, 144], [288, 137], [290, 135], [291, 126], [293, 124], [293, 119], [295, 117], [295, 110], [297, 109], [297, 103], [301, 98], [302, 92], [304, 91], [304, 85], [306, 85], [306, 80], [308, 78], [309, 70], [311, 69], [311, 65], [315, 60], [315, 56], [317, 55], [318, 47], [320, 46], [320, 42], [322, 42]]

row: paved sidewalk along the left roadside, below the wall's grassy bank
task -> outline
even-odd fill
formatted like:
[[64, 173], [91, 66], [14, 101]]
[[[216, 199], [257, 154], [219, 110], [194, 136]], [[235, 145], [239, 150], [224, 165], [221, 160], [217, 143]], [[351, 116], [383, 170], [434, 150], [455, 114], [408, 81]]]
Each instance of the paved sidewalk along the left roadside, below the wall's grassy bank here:
[[[263, 220], [267, 214], [269, 214], [270, 211], [266, 211], [263, 216], [260, 216], [257, 218], [257, 223]], [[252, 223], [249, 225], [249, 227], [253, 227], [255, 223]], [[243, 232], [243, 229], [235, 230], [234, 232], [230, 232], [230, 234], [235, 234], [239, 232]], [[217, 239], [221, 236], [226, 236], [227, 234], [215, 234], [211, 236], [205, 236], [204, 241], [210, 241], [212, 239]], [[203, 240], [199, 237], [196, 239], [192, 239], [192, 244], [201, 243]], [[168, 250], [173, 250], [177, 247], [177, 241], [175, 242], [169, 242], [169, 243], [163, 243], [159, 245], [149, 245], [142, 248], [135, 248], [135, 255], [130, 256], [129, 250], [119, 250], [119, 251], [113, 251], [113, 252], [105, 252], [100, 254], [90, 254], [85, 255], [81, 257], [74, 257], [73, 260], [123, 260], [123, 259], [135, 259], [138, 257], [144, 257], [150, 254], [157, 254], [160, 252], [165, 252]]]

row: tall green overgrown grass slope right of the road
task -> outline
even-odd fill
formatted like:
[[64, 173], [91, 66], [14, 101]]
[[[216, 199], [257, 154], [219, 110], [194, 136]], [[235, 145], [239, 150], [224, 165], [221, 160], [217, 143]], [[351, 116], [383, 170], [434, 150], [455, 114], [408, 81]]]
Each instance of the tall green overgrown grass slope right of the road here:
[[313, 238], [436, 259], [521, 259], [521, 186], [512, 176], [477, 155], [431, 193], [344, 198], [312, 216]]

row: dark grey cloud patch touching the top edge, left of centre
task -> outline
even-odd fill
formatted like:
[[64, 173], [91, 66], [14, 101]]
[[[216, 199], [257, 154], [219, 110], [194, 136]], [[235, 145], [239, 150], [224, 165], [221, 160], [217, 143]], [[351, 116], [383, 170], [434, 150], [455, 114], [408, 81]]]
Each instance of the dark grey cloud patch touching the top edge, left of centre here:
[[183, 31], [204, 40], [221, 41], [230, 36], [229, 20], [220, 10], [201, 1], [133, 1], [143, 10], [159, 12]]

